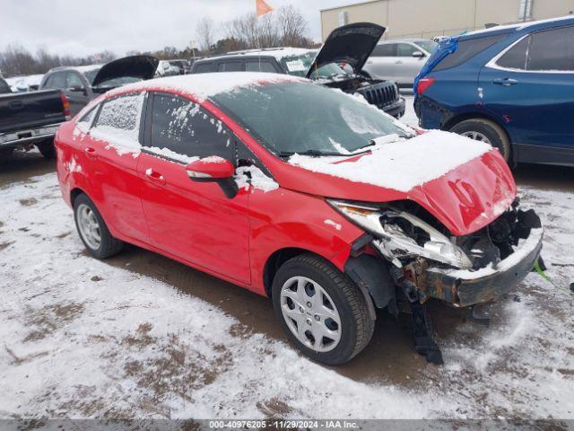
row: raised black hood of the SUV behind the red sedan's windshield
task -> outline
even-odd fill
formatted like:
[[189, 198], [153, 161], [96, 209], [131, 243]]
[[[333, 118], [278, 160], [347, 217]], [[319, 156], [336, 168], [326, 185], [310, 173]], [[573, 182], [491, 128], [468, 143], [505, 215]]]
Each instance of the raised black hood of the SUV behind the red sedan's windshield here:
[[307, 77], [329, 63], [347, 63], [355, 73], [359, 73], [385, 30], [385, 27], [371, 22], [357, 22], [331, 31], [309, 68]]

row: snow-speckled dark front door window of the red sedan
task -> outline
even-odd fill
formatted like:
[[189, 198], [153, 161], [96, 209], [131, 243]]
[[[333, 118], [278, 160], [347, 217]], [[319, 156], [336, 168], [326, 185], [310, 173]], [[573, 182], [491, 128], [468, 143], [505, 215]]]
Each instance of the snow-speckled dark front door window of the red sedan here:
[[150, 140], [148, 152], [182, 163], [210, 155], [232, 160], [230, 133], [222, 121], [173, 94], [153, 96]]

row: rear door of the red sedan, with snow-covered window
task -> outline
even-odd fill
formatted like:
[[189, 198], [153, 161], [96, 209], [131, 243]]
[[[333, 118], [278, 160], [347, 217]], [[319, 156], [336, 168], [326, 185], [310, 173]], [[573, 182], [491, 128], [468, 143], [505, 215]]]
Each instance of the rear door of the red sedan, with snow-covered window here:
[[[148, 242], [137, 174], [143, 93], [105, 101], [83, 136], [88, 190], [112, 233]], [[117, 115], [118, 111], [122, 115]]]

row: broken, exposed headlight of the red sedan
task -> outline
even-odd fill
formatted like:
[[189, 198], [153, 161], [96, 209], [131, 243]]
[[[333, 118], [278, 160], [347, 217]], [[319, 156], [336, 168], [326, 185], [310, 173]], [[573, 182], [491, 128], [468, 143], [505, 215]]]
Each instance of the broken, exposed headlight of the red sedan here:
[[473, 263], [457, 244], [420, 218], [393, 208], [328, 202], [341, 214], [377, 237], [373, 242], [383, 256], [401, 267], [401, 258], [422, 258], [469, 269]]

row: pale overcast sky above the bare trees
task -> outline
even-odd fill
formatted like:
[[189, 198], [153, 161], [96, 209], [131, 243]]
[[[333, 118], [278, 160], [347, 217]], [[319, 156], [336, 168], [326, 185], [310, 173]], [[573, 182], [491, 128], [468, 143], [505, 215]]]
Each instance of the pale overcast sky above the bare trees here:
[[[277, 8], [293, 4], [320, 40], [319, 9], [352, 0], [268, 0]], [[11, 43], [35, 51], [43, 46], [60, 55], [86, 56], [104, 49], [184, 48], [195, 40], [204, 15], [222, 22], [255, 11], [255, 0], [0, 0], [0, 49]]]

